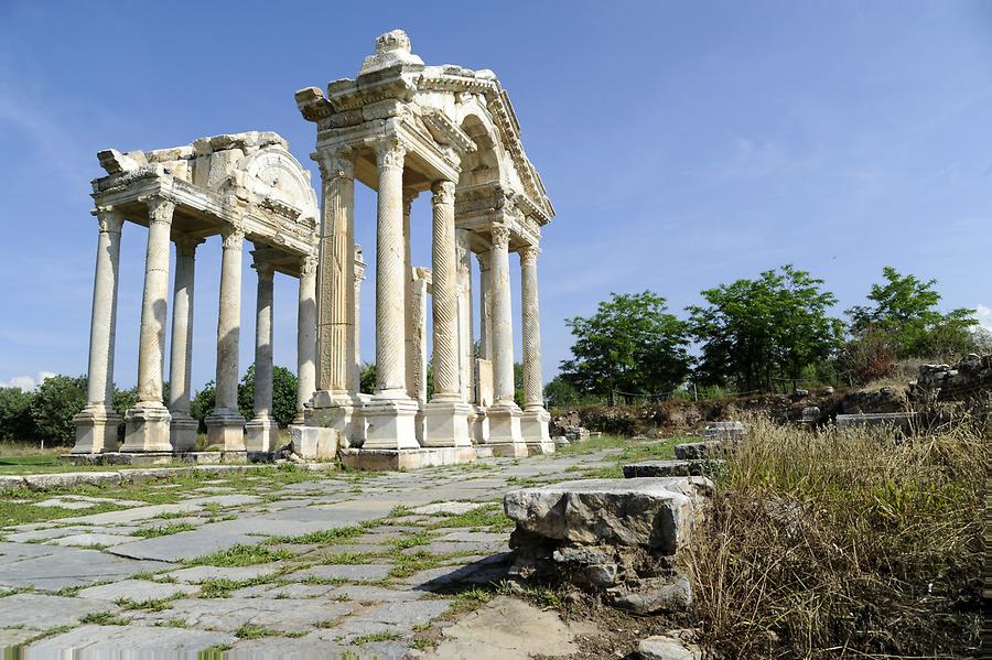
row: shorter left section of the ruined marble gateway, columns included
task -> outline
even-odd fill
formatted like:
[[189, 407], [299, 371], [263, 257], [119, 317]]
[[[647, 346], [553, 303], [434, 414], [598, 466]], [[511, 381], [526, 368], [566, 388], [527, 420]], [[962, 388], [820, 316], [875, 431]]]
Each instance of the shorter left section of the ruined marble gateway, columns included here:
[[[125, 414], [121, 453], [187, 453], [195, 448], [190, 416], [193, 280], [196, 247], [223, 236], [217, 323], [217, 404], [206, 419], [209, 443], [228, 459], [246, 451], [271, 452], [272, 277], [300, 278], [299, 416], [314, 389], [316, 326], [316, 195], [310, 173], [271, 132], [215, 136], [192, 144], [121, 154], [100, 152], [107, 176], [94, 181], [99, 223], [88, 404], [76, 419], [74, 454], [115, 452], [120, 419], [110, 405], [117, 279], [125, 220], [148, 227], [144, 294], [138, 356], [138, 402]], [[238, 342], [241, 325], [241, 249], [252, 241], [258, 273], [255, 416], [238, 413]], [[175, 244], [169, 401], [163, 361], [169, 309], [170, 241]], [[168, 403], [168, 407], [166, 407]]]

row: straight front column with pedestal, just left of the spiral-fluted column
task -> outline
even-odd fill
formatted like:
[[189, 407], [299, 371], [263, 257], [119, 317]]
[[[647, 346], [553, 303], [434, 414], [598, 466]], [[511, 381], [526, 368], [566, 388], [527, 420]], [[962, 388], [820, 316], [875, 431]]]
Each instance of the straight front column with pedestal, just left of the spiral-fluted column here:
[[393, 138], [375, 145], [379, 171], [376, 224], [376, 393], [363, 407], [365, 450], [417, 448], [419, 407], [407, 396], [403, 294], [403, 158]]

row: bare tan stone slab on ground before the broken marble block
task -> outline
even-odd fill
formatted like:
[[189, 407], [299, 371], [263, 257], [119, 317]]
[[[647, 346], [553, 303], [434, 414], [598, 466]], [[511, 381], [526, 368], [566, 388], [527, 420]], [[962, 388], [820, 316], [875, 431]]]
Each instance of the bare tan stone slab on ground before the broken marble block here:
[[436, 660], [529, 660], [533, 656], [560, 658], [578, 653], [579, 635], [591, 626], [565, 624], [553, 610], [497, 596], [441, 632], [431, 653]]

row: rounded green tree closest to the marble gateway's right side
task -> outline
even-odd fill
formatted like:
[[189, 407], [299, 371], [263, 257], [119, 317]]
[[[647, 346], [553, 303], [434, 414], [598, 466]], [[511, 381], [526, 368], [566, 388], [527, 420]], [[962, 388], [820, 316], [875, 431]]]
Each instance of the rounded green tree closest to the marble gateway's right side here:
[[689, 374], [689, 328], [650, 291], [612, 293], [589, 318], [565, 320], [575, 342], [561, 371], [580, 391], [615, 402], [669, 391]]

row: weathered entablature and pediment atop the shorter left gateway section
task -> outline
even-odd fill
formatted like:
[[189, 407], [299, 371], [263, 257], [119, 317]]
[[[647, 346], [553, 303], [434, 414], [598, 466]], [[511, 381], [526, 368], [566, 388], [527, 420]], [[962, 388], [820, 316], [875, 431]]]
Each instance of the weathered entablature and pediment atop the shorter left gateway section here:
[[94, 199], [133, 221], [148, 221], [142, 199], [163, 195], [176, 205], [176, 235], [204, 238], [234, 226], [280, 248], [288, 263], [315, 253], [320, 206], [310, 172], [277, 133], [228, 133], [152, 151], [109, 149], [98, 158], [107, 176], [93, 182]]

